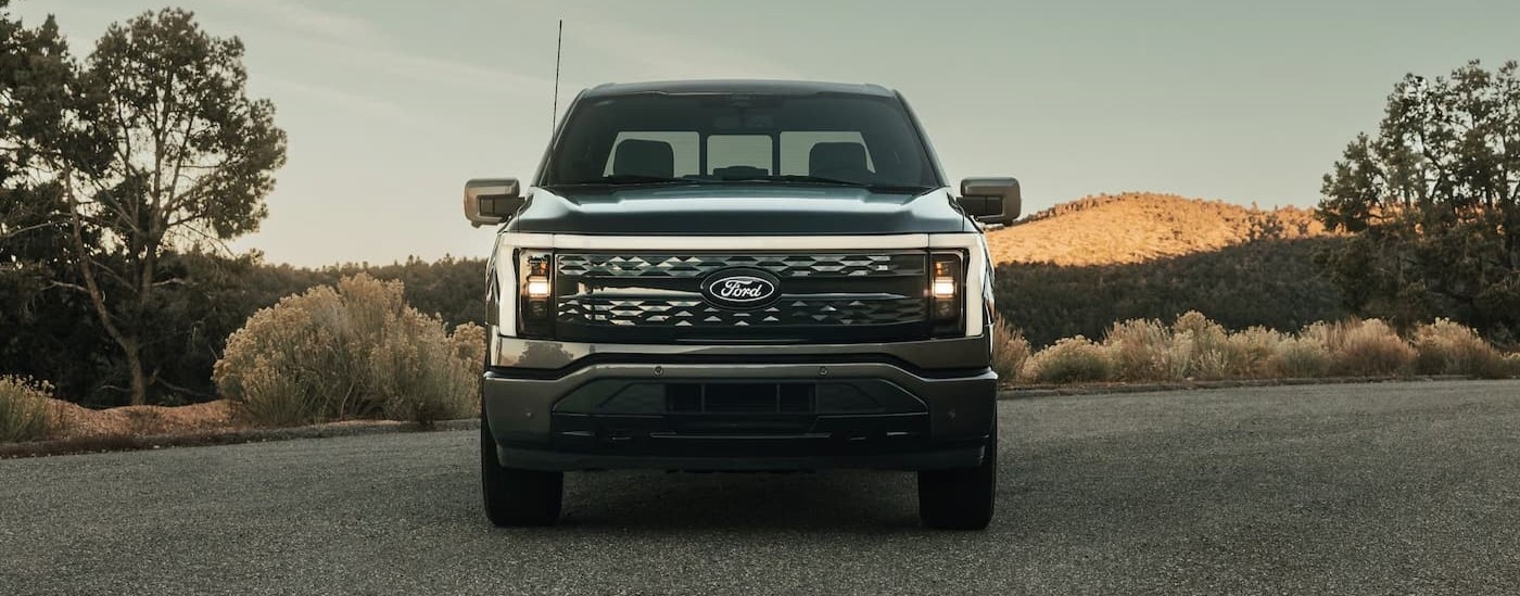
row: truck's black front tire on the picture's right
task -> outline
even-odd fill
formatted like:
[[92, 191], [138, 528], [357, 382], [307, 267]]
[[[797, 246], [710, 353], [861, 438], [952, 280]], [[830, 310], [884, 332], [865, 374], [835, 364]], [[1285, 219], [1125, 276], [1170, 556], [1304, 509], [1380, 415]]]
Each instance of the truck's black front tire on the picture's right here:
[[982, 465], [918, 473], [918, 518], [935, 529], [985, 529], [997, 502], [997, 426]]

